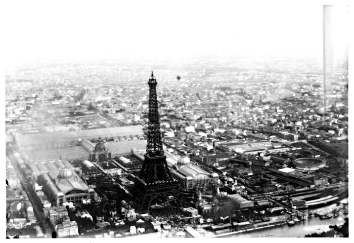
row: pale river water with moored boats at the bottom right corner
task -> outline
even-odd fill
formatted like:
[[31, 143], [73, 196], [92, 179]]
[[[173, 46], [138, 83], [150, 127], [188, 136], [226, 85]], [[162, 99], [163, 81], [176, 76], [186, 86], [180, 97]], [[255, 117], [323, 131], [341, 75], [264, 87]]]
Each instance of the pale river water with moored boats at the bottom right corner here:
[[[329, 212], [334, 206], [335, 204], [321, 209], [312, 210], [312, 212]], [[297, 222], [293, 226], [288, 226], [286, 224], [283, 226], [276, 226], [268, 229], [259, 229], [247, 233], [245, 232], [234, 234], [228, 237], [304, 237], [306, 234], [329, 231], [330, 225], [342, 225], [345, 222], [344, 218], [348, 216], [349, 215], [344, 215], [343, 210], [341, 210], [339, 216], [335, 218], [332, 217], [330, 219], [320, 219], [319, 217], [312, 217], [305, 221]]]

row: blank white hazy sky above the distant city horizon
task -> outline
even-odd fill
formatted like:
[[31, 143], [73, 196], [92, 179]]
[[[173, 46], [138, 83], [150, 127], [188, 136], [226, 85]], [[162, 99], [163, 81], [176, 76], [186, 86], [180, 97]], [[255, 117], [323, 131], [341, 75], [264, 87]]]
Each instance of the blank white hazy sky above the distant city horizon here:
[[[3, 4], [3, 39], [8, 65], [37, 59], [178, 58], [198, 54], [321, 57], [322, 5], [334, 3], [7, 2]], [[336, 19], [342, 20], [343, 14], [337, 14]], [[336, 31], [343, 29], [340, 24]]]

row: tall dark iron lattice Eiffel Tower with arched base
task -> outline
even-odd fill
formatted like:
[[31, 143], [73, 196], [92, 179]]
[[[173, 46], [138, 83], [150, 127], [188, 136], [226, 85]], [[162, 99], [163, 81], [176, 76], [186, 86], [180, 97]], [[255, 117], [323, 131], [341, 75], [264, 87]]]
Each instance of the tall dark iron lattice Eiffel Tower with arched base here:
[[153, 199], [160, 195], [173, 196], [182, 207], [189, 207], [181, 193], [178, 181], [172, 178], [163, 152], [159, 111], [157, 107], [156, 79], [153, 72], [149, 78], [149, 124], [148, 141], [143, 167], [135, 181], [135, 202], [138, 213], [149, 212]]

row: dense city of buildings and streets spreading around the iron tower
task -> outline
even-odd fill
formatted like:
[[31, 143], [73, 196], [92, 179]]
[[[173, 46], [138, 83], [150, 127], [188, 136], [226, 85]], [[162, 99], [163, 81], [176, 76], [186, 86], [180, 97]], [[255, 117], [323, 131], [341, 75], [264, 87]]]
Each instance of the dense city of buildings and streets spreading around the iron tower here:
[[[348, 74], [345, 63], [335, 67], [326, 107], [316, 59], [108, 60], [7, 70], [7, 234], [233, 237], [314, 220], [343, 224]], [[150, 126], [155, 80], [160, 132]], [[166, 167], [155, 167], [151, 180], [174, 189], [145, 205], [135, 192], [150, 185], [141, 179], [157, 149], [153, 132]], [[161, 170], [169, 181], [156, 179]], [[330, 230], [323, 231], [341, 234]]]

